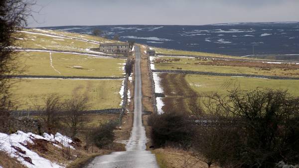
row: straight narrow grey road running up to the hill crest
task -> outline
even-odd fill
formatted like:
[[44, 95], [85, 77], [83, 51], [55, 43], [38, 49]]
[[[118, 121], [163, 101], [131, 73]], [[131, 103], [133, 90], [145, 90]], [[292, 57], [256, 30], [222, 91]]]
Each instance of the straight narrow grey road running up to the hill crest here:
[[135, 45], [134, 124], [126, 152], [96, 157], [86, 168], [158, 168], [155, 156], [146, 151], [146, 131], [142, 124], [142, 80], [140, 48]]

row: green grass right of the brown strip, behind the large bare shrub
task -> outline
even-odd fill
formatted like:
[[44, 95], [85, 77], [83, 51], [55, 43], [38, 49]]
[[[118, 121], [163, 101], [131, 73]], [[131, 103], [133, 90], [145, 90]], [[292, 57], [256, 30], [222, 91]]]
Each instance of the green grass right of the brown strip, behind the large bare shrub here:
[[257, 87], [284, 89], [291, 94], [299, 96], [299, 80], [277, 80], [246, 77], [226, 77], [207, 75], [186, 75], [189, 86], [197, 93], [218, 92], [226, 95], [228, 90], [240, 88], [242, 90]]

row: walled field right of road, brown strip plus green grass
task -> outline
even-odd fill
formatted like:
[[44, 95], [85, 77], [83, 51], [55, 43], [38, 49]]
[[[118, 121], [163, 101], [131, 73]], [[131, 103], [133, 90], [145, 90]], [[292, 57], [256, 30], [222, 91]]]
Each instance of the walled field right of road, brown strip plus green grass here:
[[227, 95], [229, 90], [240, 88], [251, 90], [257, 87], [284, 89], [299, 96], [299, 80], [276, 80], [247, 77], [226, 77], [159, 73], [165, 97], [162, 98], [164, 112], [190, 112], [190, 100], [205, 93], [218, 92]]

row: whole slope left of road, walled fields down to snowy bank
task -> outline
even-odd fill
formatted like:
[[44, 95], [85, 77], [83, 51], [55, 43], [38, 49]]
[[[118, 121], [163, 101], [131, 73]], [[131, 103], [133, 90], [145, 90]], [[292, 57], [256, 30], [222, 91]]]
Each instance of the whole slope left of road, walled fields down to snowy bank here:
[[[4, 168], [40, 168], [41, 165], [45, 168], [65, 168], [71, 165], [72, 168], [97, 155], [123, 149], [123, 144], [119, 143], [99, 149], [93, 144], [89, 145], [90, 140], [87, 141], [87, 133], [109, 122], [119, 123], [122, 108], [126, 106], [130, 109], [132, 106], [124, 104], [125, 97], [130, 101], [132, 88], [130, 77], [127, 84], [129, 93], [124, 96], [127, 93], [124, 90], [124, 66], [128, 57], [92, 51], [100, 43], [115, 41], [41, 29], [24, 29], [15, 36], [18, 39], [17, 47], [13, 47], [14, 62], [19, 65], [18, 73], [11, 76], [16, 107], [11, 114], [15, 118], [15, 127], [10, 128], [13, 134], [0, 133], [0, 156], [2, 158], [8, 153], [11, 157], [1, 160], [0, 165]], [[44, 120], [39, 111], [51, 95], [57, 95], [61, 101], [88, 100], [80, 119], [76, 142], [67, 137], [70, 132], [65, 123], [58, 123], [57, 132], [66, 136], [60, 133], [55, 136], [43, 134], [48, 130], [41, 123]], [[122, 120], [130, 124], [128, 116], [122, 117]], [[115, 131], [116, 139], [125, 140], [129, 136], [127, 132], [130, 128], [123, 127]], [[67, 143], [63, 144], [64, 141]]]

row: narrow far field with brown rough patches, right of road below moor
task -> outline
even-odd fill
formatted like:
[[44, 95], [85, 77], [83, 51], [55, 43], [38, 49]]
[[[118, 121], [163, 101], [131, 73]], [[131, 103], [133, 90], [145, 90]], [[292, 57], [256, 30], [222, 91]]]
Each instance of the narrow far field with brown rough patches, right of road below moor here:
[[[173, 57], [158, 57], [157, 59], [174, 59]], [[215, 66], [215, 65], [201, 65], [203, 60], [195, 58], [179, 58], [179, 61], [167, 61], [154, 63], [155, 69], [159, 70], [190, 70], [203, 72], [218, 72], [218, 73], [239, 73], [239, 74], [253, 74], [253, 75], [267, 75], [267, 76], [291, 76], [299, 77], [299, 69], [286, 68], [271, 68], [263, 69], [260, 67], [246, 66]], [[277, 65], [278, 66], [278, 65]]]

